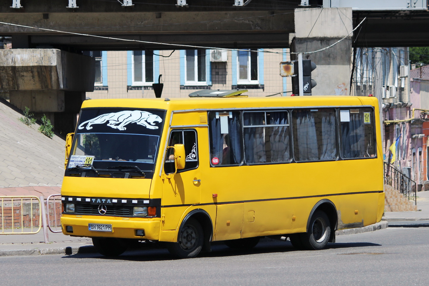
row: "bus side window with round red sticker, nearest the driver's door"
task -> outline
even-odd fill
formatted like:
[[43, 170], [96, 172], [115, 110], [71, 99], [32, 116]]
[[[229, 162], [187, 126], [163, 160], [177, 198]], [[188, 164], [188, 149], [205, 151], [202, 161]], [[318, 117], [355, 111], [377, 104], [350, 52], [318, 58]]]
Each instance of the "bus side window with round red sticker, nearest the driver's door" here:
[[241, 116], [237, 111], [208, 112], [210, 164], [239, 165], [242, 163]]

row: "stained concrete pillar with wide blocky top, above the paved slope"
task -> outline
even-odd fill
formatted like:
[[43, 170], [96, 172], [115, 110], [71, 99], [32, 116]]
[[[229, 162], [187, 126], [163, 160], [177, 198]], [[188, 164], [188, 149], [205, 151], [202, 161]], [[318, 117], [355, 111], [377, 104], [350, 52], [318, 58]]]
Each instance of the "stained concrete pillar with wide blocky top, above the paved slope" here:
[[94, 90], [94, 66], [93, 57], [57, 49], [0, 50], [0, 90], [37, 119], [45, 114], [65, 135], [73, 132], [85, 92]]

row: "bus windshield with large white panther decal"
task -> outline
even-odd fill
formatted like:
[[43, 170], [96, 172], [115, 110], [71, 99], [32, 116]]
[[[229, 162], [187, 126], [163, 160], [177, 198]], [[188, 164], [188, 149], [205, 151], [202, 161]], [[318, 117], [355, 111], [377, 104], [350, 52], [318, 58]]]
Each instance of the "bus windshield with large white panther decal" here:
[[67, 169], [127, 166], [153, 171], [165, 112], [139, 109], [83, 109]]

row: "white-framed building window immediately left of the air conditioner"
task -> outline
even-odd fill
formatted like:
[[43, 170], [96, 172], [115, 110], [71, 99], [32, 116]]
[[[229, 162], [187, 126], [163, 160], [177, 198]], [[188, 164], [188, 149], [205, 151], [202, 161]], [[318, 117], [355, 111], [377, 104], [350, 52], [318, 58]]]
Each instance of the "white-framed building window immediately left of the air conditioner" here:
[[207, 84], [205, 50], [186, 50], [185, 56], [185, 84]]

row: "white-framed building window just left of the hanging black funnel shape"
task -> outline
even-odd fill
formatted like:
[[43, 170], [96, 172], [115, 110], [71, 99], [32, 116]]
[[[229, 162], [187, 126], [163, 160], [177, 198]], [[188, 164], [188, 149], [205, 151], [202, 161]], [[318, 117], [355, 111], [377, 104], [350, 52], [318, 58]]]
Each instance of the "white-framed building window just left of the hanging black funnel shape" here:
[[154, 83], [154, 51], [133, 51], [133, 85]]

